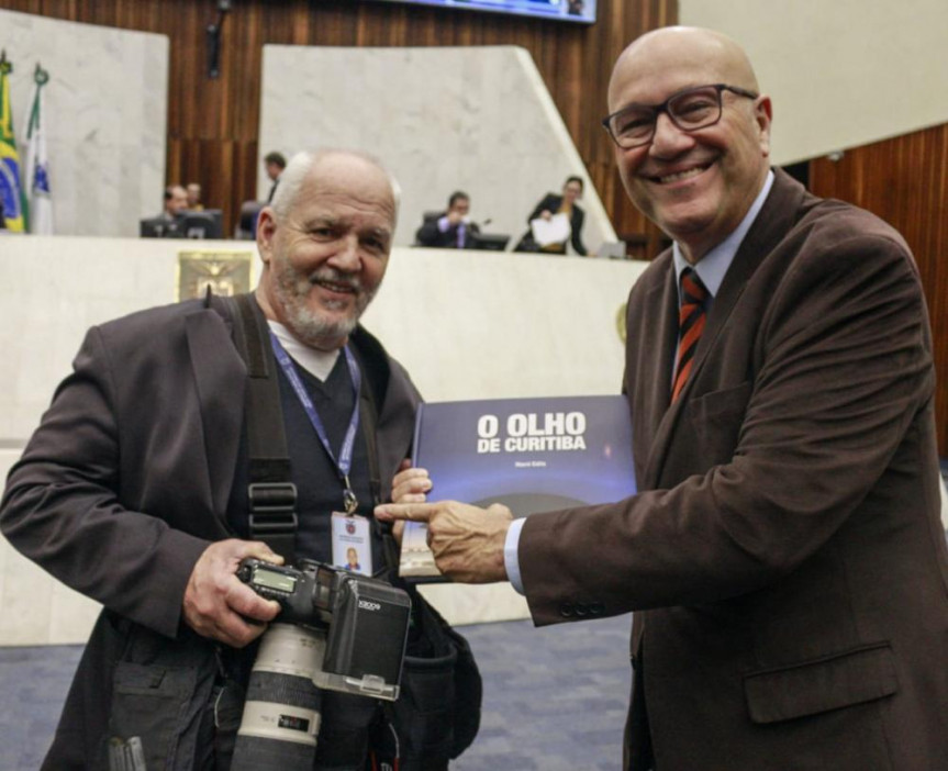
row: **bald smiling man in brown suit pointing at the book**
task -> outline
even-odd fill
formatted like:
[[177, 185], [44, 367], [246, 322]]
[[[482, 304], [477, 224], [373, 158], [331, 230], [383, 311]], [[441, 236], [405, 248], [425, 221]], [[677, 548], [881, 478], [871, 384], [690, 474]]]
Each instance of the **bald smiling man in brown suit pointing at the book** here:
[[[908, 246], [770, 167], [771, 100], [729, 37], [643, 35], [609, 109], [625, 189], [673, 238], [627, 304], [638, 494], [377, 516], [427, 521], [445, 576], [510, 579], [537, 625], [634, 612], [626, 769], [944, 771], [948, 548]], [[414, 471], [412, 494], [437, 484]]]

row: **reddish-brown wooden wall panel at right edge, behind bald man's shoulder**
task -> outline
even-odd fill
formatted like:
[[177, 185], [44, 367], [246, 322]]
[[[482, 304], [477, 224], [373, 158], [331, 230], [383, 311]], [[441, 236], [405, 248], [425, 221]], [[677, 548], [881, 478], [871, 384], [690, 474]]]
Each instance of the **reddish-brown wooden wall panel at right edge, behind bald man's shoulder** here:
[[813, 160], [810, 188], [868, 209], [912, 247], [935, 340], [938, 450], [948, 456], [948, 124]]

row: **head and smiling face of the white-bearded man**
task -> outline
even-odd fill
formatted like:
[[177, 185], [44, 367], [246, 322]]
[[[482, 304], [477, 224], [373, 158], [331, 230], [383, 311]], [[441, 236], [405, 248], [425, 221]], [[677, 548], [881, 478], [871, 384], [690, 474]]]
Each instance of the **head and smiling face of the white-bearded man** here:
[[[282, 185], [281, 185], [282, 187]], [[319, 156], [283, 216], [261, 210], [257, 300], [304, 345], [345, 345], [381, 283], [395, 202], [388, 176], [346, 153]]]

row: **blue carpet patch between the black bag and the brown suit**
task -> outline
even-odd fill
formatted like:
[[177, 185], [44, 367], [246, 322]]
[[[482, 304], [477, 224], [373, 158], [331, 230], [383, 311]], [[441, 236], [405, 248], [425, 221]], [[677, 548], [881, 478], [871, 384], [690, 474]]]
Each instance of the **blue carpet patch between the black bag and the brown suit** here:
[[477, 740], [457, 771], [614, 771], [631, 684], [629, 616], [540, 629], [461, 628], [484, 681]]

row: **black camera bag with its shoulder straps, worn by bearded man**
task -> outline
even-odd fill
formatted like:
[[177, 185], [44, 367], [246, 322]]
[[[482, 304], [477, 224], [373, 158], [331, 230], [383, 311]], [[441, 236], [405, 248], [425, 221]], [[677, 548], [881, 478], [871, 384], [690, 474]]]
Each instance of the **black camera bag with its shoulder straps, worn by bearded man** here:
[[[295, 488], [283, 435], [282, 410], [276, 362], [266, 319], [250, 294], [216, 298], [223, 301], [234, 328], [234, 342], [247, 366], [249, 389], [246, 420], [249, 455], [250, 537], [265, 541], [293, 560], [297, 529]], [[375, 344], [373, 339], [367, 342]], [[354, 351], [364, 371], [360, 351]], [[381, 353], [381, 351], [380, 351]], [[380, 473], [376, 452], [378, 411], [369, 381], [363, 381], [360, 416], [368, 443], [370, 482], [380, 503]], [[371, 767], [389, 763], [400, 771], [438, 771], [457, 758], [480, 727], [482, 683], [468, 641], [440, 614], [398, 577], [399, 547], [391, 525], [372, 519], [381, 536], [386, 573], [390, 583], [409, 592], [412, 600], [409, 641], [398, 701], [379, 704], [369, 729]], [[345, 722], [345, 716], [339, 715]]]

